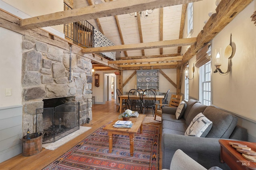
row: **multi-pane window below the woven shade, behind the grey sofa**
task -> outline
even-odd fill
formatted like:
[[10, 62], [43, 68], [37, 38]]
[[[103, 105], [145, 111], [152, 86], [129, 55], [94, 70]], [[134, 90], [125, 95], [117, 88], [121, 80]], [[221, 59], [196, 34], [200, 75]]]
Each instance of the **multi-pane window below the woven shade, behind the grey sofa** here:
[[199, 100], [206, 106], [211, 105], [211, 61], [199, 68]]

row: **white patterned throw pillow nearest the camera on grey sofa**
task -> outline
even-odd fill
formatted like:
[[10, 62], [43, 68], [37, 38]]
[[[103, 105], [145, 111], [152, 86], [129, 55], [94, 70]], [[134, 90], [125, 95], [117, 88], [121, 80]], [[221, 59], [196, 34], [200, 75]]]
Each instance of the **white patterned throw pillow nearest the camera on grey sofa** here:
[[[196, 115], [191, 121], [184, 135], [205, 137], [212, 128], [212, 121], [207, 119], [202, 113]], [[204, 133], [205, 132], [205, 133]]]

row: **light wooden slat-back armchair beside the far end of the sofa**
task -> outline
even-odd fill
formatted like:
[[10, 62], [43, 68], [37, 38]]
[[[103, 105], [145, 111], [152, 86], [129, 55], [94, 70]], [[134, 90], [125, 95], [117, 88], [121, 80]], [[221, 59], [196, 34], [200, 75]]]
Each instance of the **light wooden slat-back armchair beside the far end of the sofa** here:
[[[154, 120], [156, 120], [156, 115], [162, 117], [162, 107], [168, 106], [168, 107], [178, 107], [180, 102], [182, 101], [182, 95], [175, 95], [172, 94], [171, 100], [169, 104], [155, 104], [156, 108], [155, 108], [155, 117]], [[157, 107], [160, 106], [158, 109]]]

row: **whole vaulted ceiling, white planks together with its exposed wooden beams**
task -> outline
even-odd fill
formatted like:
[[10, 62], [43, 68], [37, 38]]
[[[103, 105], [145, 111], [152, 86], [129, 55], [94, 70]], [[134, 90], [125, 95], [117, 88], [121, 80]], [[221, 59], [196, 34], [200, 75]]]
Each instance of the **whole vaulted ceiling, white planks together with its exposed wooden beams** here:
[[[95, 2], [100, 2], [95, 4]], [[110, 1], [110, 2], [109, 2]], [[95, 70], [180, 68], [211, 41], [252, 0], [221, 0], [202, 31], [183, 38], [186, 7], [200, 0], [74, 0], [74, 10], [56, 12], [20, 21], [26, 29], [87, 20], [115, 46], [82, 49], [82, 53], [121, 51], [120, 61], [92, 61]], [[133, 14], [154, 9], [148, 18]], [[143, 15], [143, 14], [142, 14]], [[182, 55], [181, 47], [191, 47]], [[106, 60], [105, 60], [106, 61]]]

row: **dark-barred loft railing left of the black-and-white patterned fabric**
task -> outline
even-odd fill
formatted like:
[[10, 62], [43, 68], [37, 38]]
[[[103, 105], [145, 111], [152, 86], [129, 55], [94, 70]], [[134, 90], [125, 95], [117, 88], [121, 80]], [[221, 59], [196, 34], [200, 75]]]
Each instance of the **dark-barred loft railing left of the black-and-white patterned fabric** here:
[[[72, 10], [72, 8], [64, 2], [64, 10]], [[80, 47], [93, 47], [93, 26], [88, 21], [64, 24], [64, 33], [66, 39], [70, 39]]]

